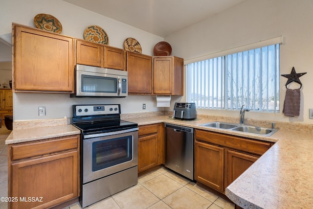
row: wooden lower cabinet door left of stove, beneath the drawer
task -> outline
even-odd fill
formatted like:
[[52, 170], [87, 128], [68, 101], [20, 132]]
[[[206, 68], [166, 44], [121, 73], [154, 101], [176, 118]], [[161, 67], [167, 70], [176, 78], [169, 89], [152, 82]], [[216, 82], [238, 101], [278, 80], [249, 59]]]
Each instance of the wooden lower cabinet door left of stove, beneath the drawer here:
[[[10, 196], [19, 201], [12, 202], [11, 208], [50, 208], [78, 197], [78, 159], [76, 150], [12, 163]], [[39, 201], [28, 197], [38, 197]]]

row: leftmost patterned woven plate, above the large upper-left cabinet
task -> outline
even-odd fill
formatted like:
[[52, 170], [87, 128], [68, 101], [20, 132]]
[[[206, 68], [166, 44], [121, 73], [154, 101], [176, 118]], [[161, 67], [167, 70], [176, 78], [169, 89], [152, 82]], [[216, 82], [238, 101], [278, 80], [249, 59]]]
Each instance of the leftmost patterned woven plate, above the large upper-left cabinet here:
[[47, 14], [38, 14], [34, 17], [34, 23], [37, 28], [55, 32], [55, 33], [61, 33], [62, 32], [62, 24], [53, 17], [52, 15]]

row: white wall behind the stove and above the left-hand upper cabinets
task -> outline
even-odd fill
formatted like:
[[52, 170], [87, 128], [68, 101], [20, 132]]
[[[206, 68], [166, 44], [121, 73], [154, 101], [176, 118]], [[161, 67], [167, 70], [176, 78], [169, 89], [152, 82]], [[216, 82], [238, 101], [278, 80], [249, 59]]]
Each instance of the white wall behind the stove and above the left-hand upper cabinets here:
[[[133, 26], [117, 22], [97, 13], [72, 5], [62, 0], [1, 0], [0, 6], [0, 37], [10, 42], [13, 23], [35, 27], [34, 17], [39, 13], [50, 14], [62, 24], [61, 34], [83, 39], [87, 26], [95, 24], [102, 27], [109, 36], [109, 46], [123, 48], [124, 40], [135, 38], [142, 47], [142, 53], [153, 55], [153, 47], [163, 41], [162, 37], [145, 32]], [[71, 117], [72, 104], [121, 104], [122, 113], [138, 113], [159, 111], [155, 96], [128, 96], [127, 98], [69, 98], [68, 94], [13, 94], [13, 119], [50, 119]], [[146, 103], [146, 110], [142, 110]], [[46, 106], [46, 116], [38, 116], [38, 107]]]

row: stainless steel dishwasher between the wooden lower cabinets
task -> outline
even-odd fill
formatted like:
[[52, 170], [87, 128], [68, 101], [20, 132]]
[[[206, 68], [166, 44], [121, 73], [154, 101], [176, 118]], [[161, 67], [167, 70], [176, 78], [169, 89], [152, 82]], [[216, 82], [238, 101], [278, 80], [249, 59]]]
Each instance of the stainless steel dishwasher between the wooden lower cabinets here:
[[165, 166], [194, 180], [194, 129], [165, 123]]

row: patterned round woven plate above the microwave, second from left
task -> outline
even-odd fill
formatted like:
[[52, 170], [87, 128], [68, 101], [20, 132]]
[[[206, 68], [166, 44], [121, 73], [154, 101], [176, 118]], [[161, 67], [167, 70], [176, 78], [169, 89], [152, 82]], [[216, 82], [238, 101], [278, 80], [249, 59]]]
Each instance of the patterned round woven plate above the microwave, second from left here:
[[97, 25], [89, 25], [88, 27], [86, 27], [84, 32], [84, 39], [89, 42], [95, 42], [98, 44], [109, 44], [108, 34], [106, 33], [106, 31], [104, 31], [104, 29]]

